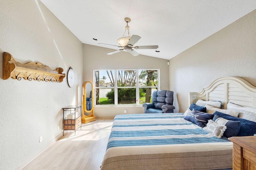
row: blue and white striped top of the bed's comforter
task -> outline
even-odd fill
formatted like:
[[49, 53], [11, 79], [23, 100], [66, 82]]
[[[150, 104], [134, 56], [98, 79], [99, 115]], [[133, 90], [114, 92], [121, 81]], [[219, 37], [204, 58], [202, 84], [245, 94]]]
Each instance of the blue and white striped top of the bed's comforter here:
[[117, 115], [107, 149], [111, 147], [229, 142], [186, 121], [184, 113]]

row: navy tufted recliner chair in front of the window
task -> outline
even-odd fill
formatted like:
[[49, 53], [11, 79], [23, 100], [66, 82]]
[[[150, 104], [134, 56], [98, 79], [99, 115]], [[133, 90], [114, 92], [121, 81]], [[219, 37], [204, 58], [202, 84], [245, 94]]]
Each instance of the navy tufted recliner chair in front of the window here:
[[173, 113], [173, 91], [157, 90], [152, 94], [152, 103], [144, 103], [144, 113]]

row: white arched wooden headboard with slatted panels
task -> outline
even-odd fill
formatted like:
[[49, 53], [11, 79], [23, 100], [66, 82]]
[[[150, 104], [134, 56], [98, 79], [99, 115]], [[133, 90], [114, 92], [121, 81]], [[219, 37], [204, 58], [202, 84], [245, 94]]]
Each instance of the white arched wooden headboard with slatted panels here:
[[190, 92], [189, 106], [199, 99], [221, 101], [222, 109], [227, 108], [228, 102], [240, 106], [256, 108], [256, 87], [239, 77], [220, 77], [199, 93]]

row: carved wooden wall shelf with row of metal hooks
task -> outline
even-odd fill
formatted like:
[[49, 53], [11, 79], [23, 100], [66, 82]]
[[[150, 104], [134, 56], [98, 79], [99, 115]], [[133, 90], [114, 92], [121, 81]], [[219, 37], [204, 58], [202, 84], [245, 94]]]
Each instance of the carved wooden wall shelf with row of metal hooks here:
[[21, 64], [14, 60], [10, 53], [4, 52], [3, 54], [3, 79], [7, 80], [10, 77], [13, 79], [31, 81], [32, 79], [37, 81], [51, 81], [62, 82], [65, 74], [62, 74], [63, 68], [59, 67], [56, 70], [52, 70], [49, 66], [45, 66], [42, 63], [29, 62]]

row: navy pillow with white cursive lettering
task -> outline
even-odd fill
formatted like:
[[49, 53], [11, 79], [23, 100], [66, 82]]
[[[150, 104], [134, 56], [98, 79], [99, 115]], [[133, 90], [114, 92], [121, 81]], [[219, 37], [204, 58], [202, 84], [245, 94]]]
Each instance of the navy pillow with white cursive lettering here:
[[204, 113], [198, 110], [192, 110], [188, 112], [188, 114], [184, 117], [185, 120], [191, 121], [192, 123], [196, 123], [196, 125], [200, 127], [205, 127], [208, 123], [208, 120], [212, 119], [213, 115]]

